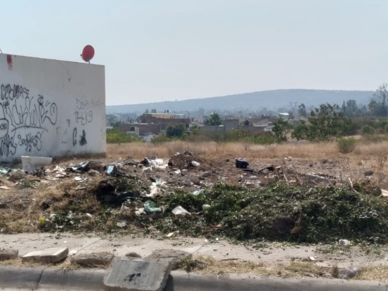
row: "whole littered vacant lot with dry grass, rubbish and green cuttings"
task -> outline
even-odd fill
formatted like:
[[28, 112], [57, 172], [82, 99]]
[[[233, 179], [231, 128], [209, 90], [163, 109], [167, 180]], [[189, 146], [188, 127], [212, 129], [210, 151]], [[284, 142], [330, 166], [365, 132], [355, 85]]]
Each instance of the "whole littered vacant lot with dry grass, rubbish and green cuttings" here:
[[[334, 143], [109, 145], [106, 158], [2, 171], [0, 230], [217, 237], [258, 248], [348, 239], [373, 250], [388, 240], [380, 190], [388, 189], [387, 148], [359, 143], [344, 155]], [[249, 167], [236, 168], [237, 157]]]

